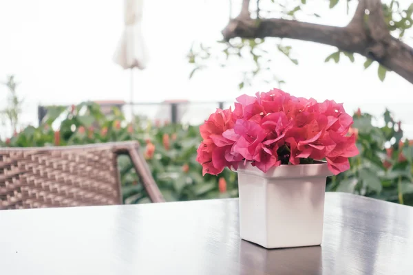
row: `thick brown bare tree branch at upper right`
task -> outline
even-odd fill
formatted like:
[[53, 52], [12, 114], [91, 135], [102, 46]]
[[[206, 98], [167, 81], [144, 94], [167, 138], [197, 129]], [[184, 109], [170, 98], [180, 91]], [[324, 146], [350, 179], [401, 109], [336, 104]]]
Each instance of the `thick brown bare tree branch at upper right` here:
[[286, 19], [251, 19], [248, 4], [249, 0], [244, 0], [240, 15], [222, 30], [227, 41], [235, 37], [278, 37], [331, 45], [372, 58], [413, 84], [413, 48], [390, 35], [379, 0], [359, 0], [354, 17], [344, 28]]

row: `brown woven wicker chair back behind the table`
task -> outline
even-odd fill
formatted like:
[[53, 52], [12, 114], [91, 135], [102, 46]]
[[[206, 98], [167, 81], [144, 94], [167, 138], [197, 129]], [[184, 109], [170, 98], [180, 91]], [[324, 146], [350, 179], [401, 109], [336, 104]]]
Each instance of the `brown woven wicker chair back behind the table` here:
[[0, 210], [120, 204], [122, 154], [131, 157], [149, 199], [165, 201], [138, 142], [0, 148]]

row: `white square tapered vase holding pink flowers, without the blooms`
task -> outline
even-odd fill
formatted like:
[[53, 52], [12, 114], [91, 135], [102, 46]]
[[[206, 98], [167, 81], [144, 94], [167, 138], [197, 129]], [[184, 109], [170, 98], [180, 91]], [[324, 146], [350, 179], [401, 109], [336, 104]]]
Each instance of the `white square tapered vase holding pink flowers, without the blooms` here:
[[282, 165], [263, 173], [250, 163], [237, 169], [240, 236], [264, 248], [320, 245], [327, 164]]

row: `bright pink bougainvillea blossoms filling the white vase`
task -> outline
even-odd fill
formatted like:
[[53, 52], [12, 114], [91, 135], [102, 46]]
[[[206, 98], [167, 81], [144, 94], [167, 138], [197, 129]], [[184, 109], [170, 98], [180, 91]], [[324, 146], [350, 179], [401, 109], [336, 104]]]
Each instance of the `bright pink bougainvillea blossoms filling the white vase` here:
[[242, 95], [234, 110], [218, 109], [200, 126], [197, 161], [203, 175], [218, 175], [224, 167], [236, 170], [240, 162], [266, 173], [281, 164], [326, 158], [337, 175], [350, 168], [348, 157], [359, 153], [352, 123], [343, 104], [334, 100], [297, 98], [280, 89]]

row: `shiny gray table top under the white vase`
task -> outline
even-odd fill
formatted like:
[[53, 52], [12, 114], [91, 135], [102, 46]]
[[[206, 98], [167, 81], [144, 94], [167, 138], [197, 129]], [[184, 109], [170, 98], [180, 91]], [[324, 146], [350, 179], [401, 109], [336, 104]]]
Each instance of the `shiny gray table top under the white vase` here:
[[240, 239], [237, 199], [0, 211], [0, 273], [413, 274], [413, 208], [327, 193], [321, 246]]

